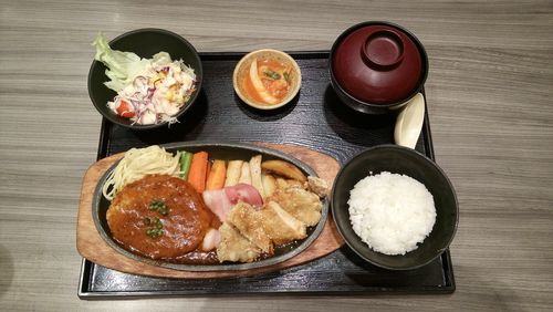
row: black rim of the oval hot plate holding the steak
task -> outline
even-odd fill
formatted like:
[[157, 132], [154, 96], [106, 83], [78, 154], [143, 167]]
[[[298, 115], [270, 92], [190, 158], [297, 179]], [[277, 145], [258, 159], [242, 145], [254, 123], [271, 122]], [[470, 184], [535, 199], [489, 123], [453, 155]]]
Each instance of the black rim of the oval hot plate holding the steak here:
[[[205, 147], [205, 146], [212, 146], [212, 147], [228, 147], [228, 148], [242, 148], [242, 149], [248, 149], [257, 153], [261, 153], [264, 155], [271, 155], [274, 157], [278, 157], [280, 159], [288, 160], [295, 166], [298, 166], [303, 173], [317, 177], [319, 175], [316, 171], [310, 167], [307, 164], [303, 163], [302, 160], [293, 157], [292, 155], [285, 154], [283, 152], [272, 149], [270, 147], [263, 147], [263, 146], [258, 146], [253, 144], [244, 144], [244, 143], [220, 143], [220, 142], [210, 142], [210, 141], [195, 141], [195, 142], [176, 142], [176, 143], [169, 143], [169, 144], [161, 144], [159, 145], [166, 149], [179, 149], [179, 148], [187, 148], [187, 147]], [[292, 259], [293, 257], [300, 254], [301, 252], [305, 251], [321, 235], [323, 231], [326, 220], [328, 219], [328, 214], [330, 214], [330, 204], [331, 204], [331, 198], [330, 195], [326, 196], [325, 198], [322, 199], [323, 201], [323, 208], [321, 210], [321, 219], [316, 226], [314, 226], [314, 229], [312, 230], [311, 235], [307, 236], [306, 238], [303, 239], [303, 241], [296, 246], [294, 249], [271, 258], [267, 258], [260, 261], [255, 262], [250, 262], [250, 263], [228, 263], [228, 264], [179, 264], [179, 263], [171, 263], [163, 260], [153, 260], [148, 259], [146, 257], [142, 257], [138, 254], [135, 254], [123, 247], [121, 247], [115, 240], [107, 233], [102, 227], [101, 220], [100, 220], [100, 214], [98, 214], [98, 207], [100, 207], [100, 201], [103, 198], [102, 194], [102, 187], [107, 178], [107, 175], [117, 166], [119, 160], [115, 162], [109, 168], [105, 171], [105, 174], [101, 177], [98, 180], [94, 194], [93, 194], [93, 199], [92, 199], [92, 207], [91, 207], [91, 212], [92, 217], [94, 220], [94, 225], [96, 227], [96, 230], [98, 231], [100, 236], [102, 239], [109, 246], [112, 247], [115, 251], [118, 253], [131, 258], [133, 260], [144, 262], [150, 266], [155, 267], [160, 267], [160, 268], [168, 268], [168, 269], [174, 269], [174, 270], [180, 270], [180, 271], [194, 271], [194, 272], [206, 272], [206, 271], [242, 271], [242, 270], [250, 270], [250, 269], [257, 269], [257, 268], [264, 268], [264, 267], [270, 267], [276, 263], [284, 262], [286, 260]]]

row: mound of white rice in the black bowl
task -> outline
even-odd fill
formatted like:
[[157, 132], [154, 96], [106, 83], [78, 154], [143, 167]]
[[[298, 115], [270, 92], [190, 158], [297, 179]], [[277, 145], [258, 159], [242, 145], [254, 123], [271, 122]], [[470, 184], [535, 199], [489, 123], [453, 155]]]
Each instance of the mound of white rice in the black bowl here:
[[436, 221], [432, 195], [406, 175], [383, 171], [365, 177], [351, 190], [347, 205], [355, 233], [385, 254], [417, 249]]

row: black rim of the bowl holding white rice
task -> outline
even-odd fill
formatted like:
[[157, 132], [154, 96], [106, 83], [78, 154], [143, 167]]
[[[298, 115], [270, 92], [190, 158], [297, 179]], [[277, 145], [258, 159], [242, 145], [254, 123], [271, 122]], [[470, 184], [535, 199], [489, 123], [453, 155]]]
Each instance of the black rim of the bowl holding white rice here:
[[[440, 173], [440, 175], [445, 178], [445, 180], [447, 181], [448, 184], [448, 187], [451, 189], [451, 194], [453, 195], [453, 201], [455, 201], [455, 216], [456, 216], [456, 220], [455, 220], [455, 226], [453, 226], [453, 230], [451, 231], [451, 237], [449, 238], [449, 240], [447, 241], [447, 243], [445, 245], [445, 247], [436, 253], [435, 257], [430, 258], [429, 260], [427, 260], [426, 262], [424, 263], [419, 263], [417, 266], [413, 266], [413, 267], [401, 267], [401, 268], [398, 268], [398, 267], [390, 267], [390, 266], [386, 266], [386, 264], [383, 264], [383, 263], [379, 263], [379, 262], [376, 262], [369, 258], [366, 258], [365, 256], [363, 256], [359, 251], [357, 251], [357, 249], [349, 242], [349, 239], [344, 235], [344, 231], [342, 229], [342, 226], [336, 221], [336, 209], [338, 209], [337, 207], [335, 207], [335, 202], [334, 202], [334, 193], [336, 191], [336, 185], [337, 183], [341, 180], [342, 176], [344, 175], [344, 171], [345, 169], [347, 168], [347, 166], [349, 164], [353, 163], [354, 159], [356, 159], [357, 157], [362, 157], [363, 155], [367, 154], [367, 153], [374, 153], [374, 150], [378, 150], [378, 149], [394, 149], [394, 150], [401, 150], [401, 152], [405, 152], [409, 155], [411, 155], [413, 157], [417, 157], [417, 158], [420, 158], [420, 159], [424, 159], [424, 162], [428, 163], [430, 166], [435, 167], [438, 173]], [[455, 191], [455, 187], [451, 183], [451, 180], [449, 179], [449, 177], [446, 175], [446, 173], [444, 171], [444, 169], [441, 169], [440, 166], [438, 166], [438, 164], [436, 164], [432, 159], [426, 157], [426, 155], [421, 154], [420, 152], [416, 150], [416, 149], [411, 149], [411, 148], [408, 148], [408, 147], [404, 147], [404, 146], [399, 146], [399, 145], [394, 145], [394, 144], [382, 144], [382, 145], [376, 145], [376, 146], [373, 146], [373, 147], [369, 147], [369, 148], [366, 148], [366, 149], [363, 149], [361, 150], [359, 153], [355, 154], [353, 157], [351, 157], [343, 166], [342, 168], [340, 169], [338, 174], [336, 175], [335, 179], [334, 179], [334, 184], [333, 184], [333, 187], [332, 187], [332, 191], [331, 191], [331, 211], [332, 211], [332, 216], [333, 216], [333, 220], [334, 220], [334, 223], [336, 225], [336, 228], [340, 232], [340, 235], [342, 236], [342, 238], [344, 238], [344, 241], [346, 242], [346, 245], [357, 254], [362, 259], [364, 259], [365, 261], [369, 262], [371, 264], [374, 264], [376, 267], [379, 267], [379, 268], [383, 268], [383, 269], [387, 269], [387, 270], [393, 270], [393, 271], [406, 271], [406, 270], [414, 270], [414, 269], [418, 269], [418, 268], [421, 268], [430, 262], [432, 262], [434, 260], [436, 260], [436, 258], [440, 257], [448, 248], [449, 246], [451, 245], [451, 242], [453, 241], [453, 238], [457, 233], [457, 228], [459, 226], [459, 201], [457, 199], [457, 194]], [[369, 248], [367, 246], [367, 248]], [[407, 254], [407, 253], [406, 253]], [[401, 256], [397, 256], [397, 257], [401, 257]]]

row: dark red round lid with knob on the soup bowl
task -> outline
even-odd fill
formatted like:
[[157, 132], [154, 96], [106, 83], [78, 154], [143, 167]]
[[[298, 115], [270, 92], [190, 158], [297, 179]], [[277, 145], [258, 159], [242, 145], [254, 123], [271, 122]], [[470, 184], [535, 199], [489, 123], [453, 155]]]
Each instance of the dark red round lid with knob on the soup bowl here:
[[342, 33], [331, 55], [334, 79], [349, 96], [372, 104], [409, 100], [426, 81], [425, 49], [407, 30], [365, 22]]

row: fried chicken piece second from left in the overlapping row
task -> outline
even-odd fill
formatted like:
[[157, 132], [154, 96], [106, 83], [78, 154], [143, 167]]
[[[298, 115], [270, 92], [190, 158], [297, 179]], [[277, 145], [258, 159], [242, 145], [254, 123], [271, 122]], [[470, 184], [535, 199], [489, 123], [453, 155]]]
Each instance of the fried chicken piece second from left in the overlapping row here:
[[240, 201], [230, 210], [227, 221], [263, 252], [274, 253], [271, 238], [264, 231], [261, 216], [255, 208]]

